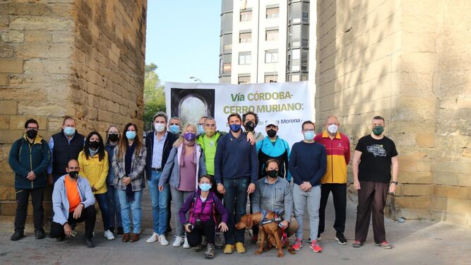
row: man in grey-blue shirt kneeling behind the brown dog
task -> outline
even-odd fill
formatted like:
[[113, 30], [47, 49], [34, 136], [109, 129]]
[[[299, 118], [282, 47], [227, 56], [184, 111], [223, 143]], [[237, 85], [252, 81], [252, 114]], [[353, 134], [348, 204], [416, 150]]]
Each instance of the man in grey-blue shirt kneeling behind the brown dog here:
[[[275, 222], [278, 223], [279, 227], [285, 231], [286, 235], [281, 235], [283, 238], [281, 240], [288, 240], [287, 237], [296, 232], [299, 225], [297, 221], [292, 218], [293, 213], [293, 195], [292, 189], [290, 187], [290, 182], [282, 177], [278, 177], [279, 162], [275, 159], [267, 160], [266, 162], [266, 172], [267, 177], [263, 179], [258, 179], [256, 184], [256, 189], [254, 192], [254, 197], [252, 198], [252, 207], [254, 209], [254, 215], [262, 214], [261, 225], [264, 223]], [[258, 213], [260, 212], [260, 213]], [[267, 214], [269, 212], [275, 213], [278, 218], [268, 218]], [[247, 216], [247, 218], [250, 218]], [[255, 224], [254, 220], [254, 224]], [[260, 230], [261, 232], [262, 230]], [[259, 233], [260, 233], [259, 232]], [[258, 235], [258, 239], [261, 239], [261, 235]], [[270, 242], [275, 242], [275, 240], [264, 240], [263, 249], [270, 247], [277, 247], [276, 245], [269, 246]], [[282, 245], [285, 245], [282, 243]], [[289, 245], [289, 242], [288, 242]]]

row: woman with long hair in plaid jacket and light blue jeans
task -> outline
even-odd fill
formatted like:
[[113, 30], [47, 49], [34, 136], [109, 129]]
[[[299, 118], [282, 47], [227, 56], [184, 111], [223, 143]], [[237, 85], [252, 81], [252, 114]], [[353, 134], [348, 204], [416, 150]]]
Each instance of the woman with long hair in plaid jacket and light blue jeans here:
[[[113, 155], [114, 187], [117, 188], [121, 206], [123, 242], [136, 242], [140, 237], [146, 153], [147, 149], [138, 134], [138, 126], [132, 123], [126, 124], [124, 135], [114, 148]], [[133, 232], [131, 232], [130, 211], [133, 213]]]

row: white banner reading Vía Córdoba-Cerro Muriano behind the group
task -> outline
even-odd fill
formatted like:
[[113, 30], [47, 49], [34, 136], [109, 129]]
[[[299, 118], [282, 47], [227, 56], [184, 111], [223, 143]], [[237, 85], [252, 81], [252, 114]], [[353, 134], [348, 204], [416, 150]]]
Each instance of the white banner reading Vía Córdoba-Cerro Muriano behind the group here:
[[165, 83], [165, 102], [169, 117], [180, 117], [182, 124], [197, 124], [202, 116], [214, 117], [217, 129], [229, 131], [227, 117], [258, 114], [256, 131], [266, 136], [266, 122], [278, 121], [278, 136], [290, 146], [301, 141], [301, 125], [313, 120], [307, 81], [228, 85], [213, 83]]

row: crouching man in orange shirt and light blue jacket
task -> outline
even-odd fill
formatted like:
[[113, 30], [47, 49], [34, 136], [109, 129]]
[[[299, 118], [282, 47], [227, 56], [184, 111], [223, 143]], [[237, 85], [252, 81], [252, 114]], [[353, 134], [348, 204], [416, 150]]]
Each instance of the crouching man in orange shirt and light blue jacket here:
[[63, 241], [66, 236], [75, 236], [76, 232], [71, 226], [85, 221], [85, 245], [95, 247], [92, 240], [97, 217], [95, 197], [88, 180], [78, 176], [79, 171], [77, 160], [68, 161], [66, 167], [68, 174], [57, 179], [54, 184], [51, 237]]

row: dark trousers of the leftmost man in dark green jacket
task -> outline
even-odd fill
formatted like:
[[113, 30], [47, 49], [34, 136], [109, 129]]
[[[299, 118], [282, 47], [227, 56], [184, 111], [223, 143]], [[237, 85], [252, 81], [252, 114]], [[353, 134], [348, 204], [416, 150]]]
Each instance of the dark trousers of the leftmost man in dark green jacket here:
[[44, 225], [44, 187], [35, 189], [16, 189], [16, 216], [15, 230], [25, 230], [26, 216], [28, 215], [28, 200], [32, 202], [32, 216], [35, 222], [35, 229]]

